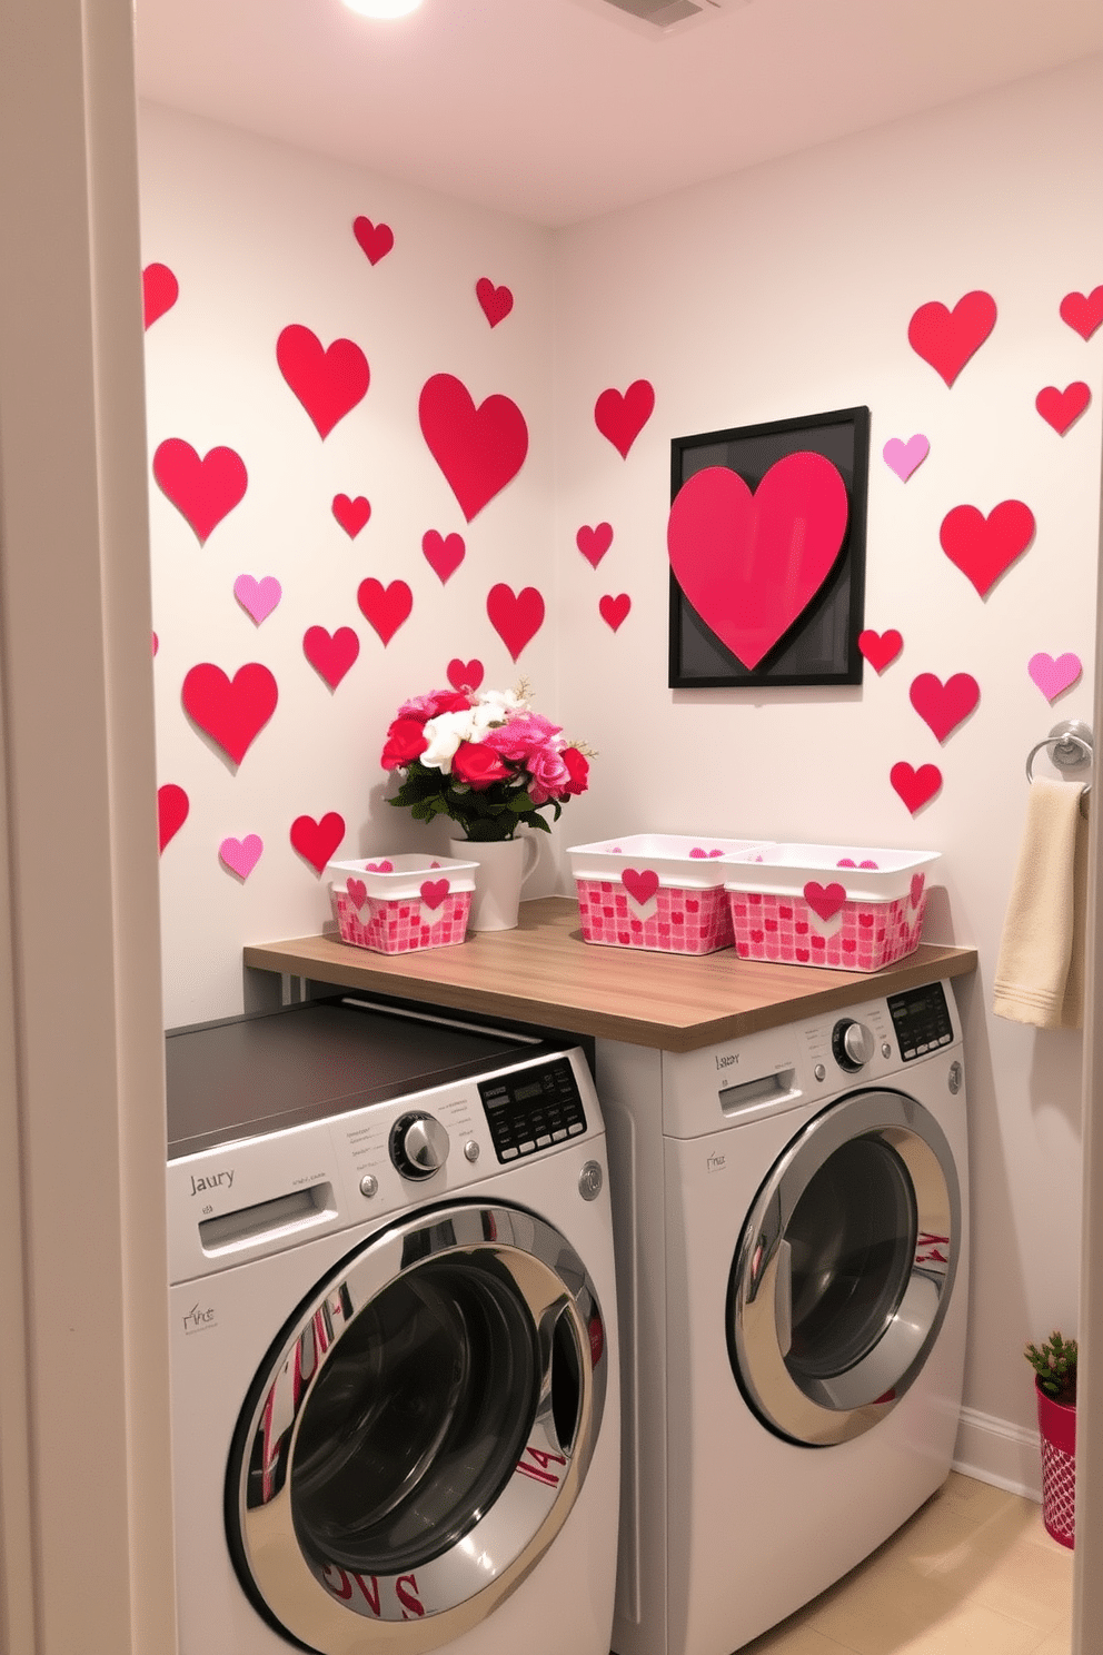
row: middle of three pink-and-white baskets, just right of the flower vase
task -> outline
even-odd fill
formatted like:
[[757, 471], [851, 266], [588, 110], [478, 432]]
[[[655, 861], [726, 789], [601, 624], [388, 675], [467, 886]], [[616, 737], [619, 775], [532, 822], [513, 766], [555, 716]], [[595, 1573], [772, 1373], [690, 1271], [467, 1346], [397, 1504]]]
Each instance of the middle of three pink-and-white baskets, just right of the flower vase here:
[[628, 834], [574, 846], [567, 856], [584, 940], [658, 953], [731, 948], [723, 861], [761, 844], [761, 839]]

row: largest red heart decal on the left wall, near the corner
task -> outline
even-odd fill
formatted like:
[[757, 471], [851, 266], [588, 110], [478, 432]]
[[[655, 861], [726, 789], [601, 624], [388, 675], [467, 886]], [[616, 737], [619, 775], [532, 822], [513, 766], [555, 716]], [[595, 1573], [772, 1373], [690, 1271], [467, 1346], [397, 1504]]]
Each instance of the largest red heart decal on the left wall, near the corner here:
[[468, 523], [513, 482], [529, 452], [529, 427], [509, 397], [486, 397], [475, 407], [453, 374], [433, 374], [422, 386], [418, 420], [428, 452], [460, 501]]

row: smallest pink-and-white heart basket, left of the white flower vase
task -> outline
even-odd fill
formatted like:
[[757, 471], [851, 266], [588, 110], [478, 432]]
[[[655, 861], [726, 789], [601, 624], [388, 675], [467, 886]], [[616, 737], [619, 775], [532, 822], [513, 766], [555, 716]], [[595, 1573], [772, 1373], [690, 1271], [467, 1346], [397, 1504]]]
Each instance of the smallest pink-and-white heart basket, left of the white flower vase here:
[[326, 872], [341, 940], [375, 953], [410, 953], [463, 942], [475, 867], [475, 862], [420, 854], [329, 862]]

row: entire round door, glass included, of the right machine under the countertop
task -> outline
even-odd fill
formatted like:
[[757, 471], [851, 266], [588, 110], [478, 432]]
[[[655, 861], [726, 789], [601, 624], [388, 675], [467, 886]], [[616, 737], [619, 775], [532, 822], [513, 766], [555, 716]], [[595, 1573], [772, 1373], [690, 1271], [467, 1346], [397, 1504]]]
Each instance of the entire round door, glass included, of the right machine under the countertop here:
[[891, 1091], [815, 1115], [736, 1248], [728, 1349], [749, 1403], [795, 1443], [860, 1437], [903, 1397], [946, 1316], [961, 1188], [938, 1120]]

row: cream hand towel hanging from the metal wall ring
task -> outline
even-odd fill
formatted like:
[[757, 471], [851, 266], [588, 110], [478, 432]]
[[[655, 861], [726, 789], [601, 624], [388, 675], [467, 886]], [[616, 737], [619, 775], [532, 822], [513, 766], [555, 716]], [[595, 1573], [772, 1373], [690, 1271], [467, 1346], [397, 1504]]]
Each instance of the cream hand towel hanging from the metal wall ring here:
[[1082, 788], [1030, 783], [996, 965], [992, 1011], [1042, 1029], [1083, 1024], [1088, 823]]

